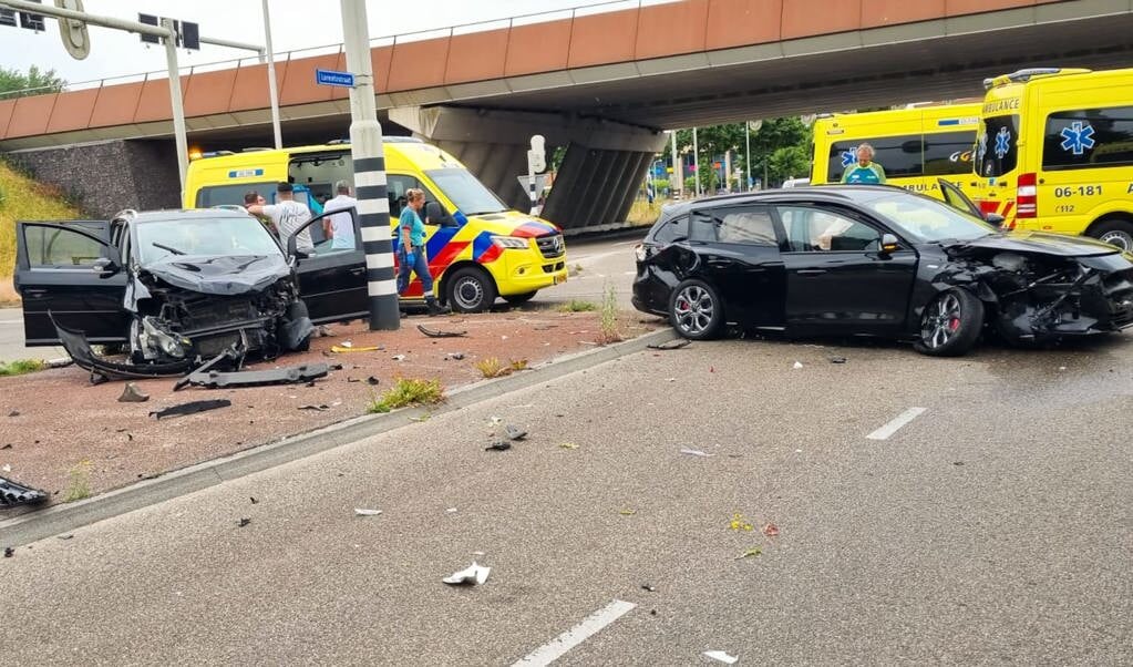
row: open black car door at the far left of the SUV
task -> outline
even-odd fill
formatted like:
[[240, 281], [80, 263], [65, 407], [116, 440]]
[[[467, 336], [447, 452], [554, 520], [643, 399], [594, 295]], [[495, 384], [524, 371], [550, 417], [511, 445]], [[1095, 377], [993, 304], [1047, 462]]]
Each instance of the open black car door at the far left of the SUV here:
[[26, 345], [60, 344], [52, 316], [91, 343], [125, 343], [127, 279], [110, 244], [110, 222], [16, 223], [15, 282], [24, 301]]

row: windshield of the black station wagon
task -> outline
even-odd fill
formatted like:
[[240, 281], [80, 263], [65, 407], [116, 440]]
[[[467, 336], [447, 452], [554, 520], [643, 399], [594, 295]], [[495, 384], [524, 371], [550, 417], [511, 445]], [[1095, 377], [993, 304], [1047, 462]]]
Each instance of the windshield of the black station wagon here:
[[987, 222], [929, 197], [894, 193], [862, 204], [884, 216], [903, 236], [919, 243], [972, 240], [996, 234], [996, 228]]

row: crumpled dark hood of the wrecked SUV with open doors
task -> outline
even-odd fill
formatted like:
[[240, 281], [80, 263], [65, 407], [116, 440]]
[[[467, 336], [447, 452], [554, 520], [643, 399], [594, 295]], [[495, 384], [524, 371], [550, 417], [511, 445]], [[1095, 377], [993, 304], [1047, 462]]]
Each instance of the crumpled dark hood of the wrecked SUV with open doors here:
[[165, 257], [145, 267], [154, 277], [181, 289], [235, 296], [262, 292], [291, 275], [282, 256]]

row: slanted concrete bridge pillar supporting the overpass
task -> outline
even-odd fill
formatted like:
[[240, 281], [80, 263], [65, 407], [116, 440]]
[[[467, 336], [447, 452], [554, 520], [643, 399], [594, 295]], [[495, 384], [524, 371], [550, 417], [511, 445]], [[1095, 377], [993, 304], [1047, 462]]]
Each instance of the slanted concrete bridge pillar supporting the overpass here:
[[451, 153], [520, 211], [530, 200], [516, 177], [527, 175], [531, 135], [546, 137], [548, 162], [555, 149], [565, 147], [543, 217], [566, 230], [624, 221], [665, 144], [659, 130], [560, 113], [402, 107], [390, 109], [390, 120]]

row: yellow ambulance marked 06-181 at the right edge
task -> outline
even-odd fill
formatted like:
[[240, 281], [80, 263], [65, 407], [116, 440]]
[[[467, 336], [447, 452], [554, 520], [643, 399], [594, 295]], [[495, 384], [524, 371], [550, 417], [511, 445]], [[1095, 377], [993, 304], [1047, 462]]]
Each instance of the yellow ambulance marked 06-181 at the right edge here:
[[1133, 251], [1133, 69], [1022, 69], [983, 85], [983, 212]]

